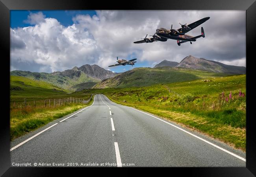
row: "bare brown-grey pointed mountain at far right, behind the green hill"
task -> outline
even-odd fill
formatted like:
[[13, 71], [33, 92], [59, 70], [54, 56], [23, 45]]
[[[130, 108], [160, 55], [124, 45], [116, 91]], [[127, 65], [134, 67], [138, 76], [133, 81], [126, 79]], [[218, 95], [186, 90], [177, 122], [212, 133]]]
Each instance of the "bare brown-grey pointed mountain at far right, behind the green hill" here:
[[246, 68], [244, 66], [225, 65], [217, 61], [210, 61], [191, 55], [185, 57], [176, 67], [206, 70], [216, 73], [246, 74]]

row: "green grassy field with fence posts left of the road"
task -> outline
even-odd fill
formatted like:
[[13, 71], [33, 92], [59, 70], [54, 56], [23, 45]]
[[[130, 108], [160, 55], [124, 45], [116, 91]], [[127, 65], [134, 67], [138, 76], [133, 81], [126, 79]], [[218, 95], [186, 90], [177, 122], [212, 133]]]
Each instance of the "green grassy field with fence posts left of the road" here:
[[[91, 94], [67, 93], [67, 90], [61, 90], [43, 81], [21, 76], [11, 76], [10, 79], [11, 140], [46, 125], [57, 118], [86, 107], [93, 100]], [[70, 97], [72, 98], [71, 102]], [[26, 105], [24, 104], [25, 98]], [[67, 102], [67, 98], [69, 98], [69, 102]], [[80, 99], [80, 103], [79, 101], [77, 102], [76, 98], [77, 100]], [[55, 106], [54, 99], [56, 100]], [[61, 104], [59, 104], [59, 99], [61, 99]], [[81, 103], [82, 100], [89, 99], [88, 103]], [[47, 100], [46, 105], [45, 100]], [[49, 100], [51, 100], [51, 105]]]

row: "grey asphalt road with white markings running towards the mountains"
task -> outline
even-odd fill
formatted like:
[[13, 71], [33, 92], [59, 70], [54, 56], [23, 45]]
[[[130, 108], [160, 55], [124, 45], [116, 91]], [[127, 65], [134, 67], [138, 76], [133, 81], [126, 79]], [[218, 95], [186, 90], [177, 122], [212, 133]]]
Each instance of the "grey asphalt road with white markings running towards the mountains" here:
[[11, 166], [246, 166], [242, 151], [102, 94], [74, 113], [13, 140]]

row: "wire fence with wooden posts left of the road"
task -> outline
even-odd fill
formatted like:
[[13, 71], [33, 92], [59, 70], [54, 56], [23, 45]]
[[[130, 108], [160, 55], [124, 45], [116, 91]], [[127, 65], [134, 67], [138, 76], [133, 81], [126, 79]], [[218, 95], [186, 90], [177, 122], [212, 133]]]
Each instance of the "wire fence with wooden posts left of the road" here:
[[61, 105], [69, 105], [69, 104], [85, 104], [88, 103], [93, 95], [89, 99], [85, 98], [76, 98], [76, 97], [68, 97], [68, 98], [54, 98], [54, 99], [45, 99], [45, 100], [29, 100], [27, 101], [24, 98], [23, 102], [11, 103], [10, 108], [21, 108], [21, 107], [57, 107]]

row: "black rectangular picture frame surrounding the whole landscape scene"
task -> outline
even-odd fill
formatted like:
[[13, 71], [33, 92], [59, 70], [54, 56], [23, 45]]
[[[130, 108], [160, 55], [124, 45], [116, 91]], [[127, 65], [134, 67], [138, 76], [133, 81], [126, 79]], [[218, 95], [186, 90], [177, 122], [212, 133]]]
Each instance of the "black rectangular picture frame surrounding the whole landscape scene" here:
[[[59, 173], [69, 172], [70, 170], [94, 170], [95, 168], [17, 168], [10, 167], [10, 142], [9, 142], [9, 88], [8, 77], [10, 64], [10, 10], [78, 10], [78, 9], [124, 9], [124, 10], [246, 10], [246, 66], [247, 66], [247, 133], [246, 133], [246, 167], [245, 168], [168, 168], [168, 175], [178, 173], [179, 176], [225, 176], [225, 177], [244, 177], [256, 175], [256, 133], [254, 128], [254, 42], [256, 41], [256, 2], [255, 0], [182, 0], [182, 1], [89, 1], [89, 0], [0, 0], [1, 18], [1, 56], [2, 67], [1, 76], [2, 87], [2, 111], [6, 113], [1, 116], [0, 129], [0, 175], [3, 176], [52, 176], [53, 171]], [[219, 28], [219, 27], [216, 27]], [[221, 27], [220, 27], [221, 28]], [[239, 46], [237, 46], [239, 47]], [[4, 55], [3, 55], [4, 54]], [[3, 94], [4, 93], [4, 94]], [[108, 168], [113, 170], [113, 168]], [[106, 170], [106, 168], [100, 168]], [[119, 168], [120, 170], [120, 168]], [[127, 170], [127, 168], [122, 168]], [[166, 170], [165, 168], [144, 168], [148, 173], [155, 170]], [[97, 171], [99, 171], [97, 169]], [[166, 171], [167, 172], [167, 171]]]

